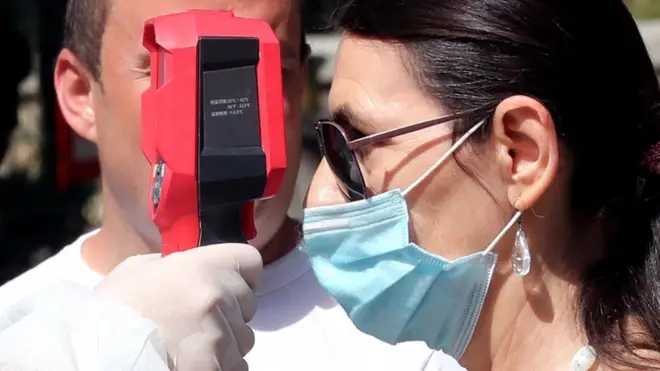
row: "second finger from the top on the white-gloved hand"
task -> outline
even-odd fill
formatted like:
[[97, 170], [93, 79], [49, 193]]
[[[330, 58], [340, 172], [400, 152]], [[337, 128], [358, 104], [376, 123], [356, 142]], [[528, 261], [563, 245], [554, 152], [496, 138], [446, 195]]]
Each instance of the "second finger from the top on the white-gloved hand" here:
[[[247, 323], [257, 312], [257, 296], [247, 282], [238, 273], [219, 271], [217, 284], [219, 289], [228, 294], [221, 295], [218, 303], [231, 322]], [[234, 313], [238, 317], [234, 317]]]

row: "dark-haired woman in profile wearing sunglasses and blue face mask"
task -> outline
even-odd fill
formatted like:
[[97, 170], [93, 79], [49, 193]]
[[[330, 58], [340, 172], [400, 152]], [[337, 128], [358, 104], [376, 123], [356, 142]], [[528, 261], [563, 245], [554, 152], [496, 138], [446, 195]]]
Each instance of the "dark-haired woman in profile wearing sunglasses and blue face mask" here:
[[304, 219], [355, 324], [480, 370], [660, 369], [660, 90], [621, 0], [354, 0]]

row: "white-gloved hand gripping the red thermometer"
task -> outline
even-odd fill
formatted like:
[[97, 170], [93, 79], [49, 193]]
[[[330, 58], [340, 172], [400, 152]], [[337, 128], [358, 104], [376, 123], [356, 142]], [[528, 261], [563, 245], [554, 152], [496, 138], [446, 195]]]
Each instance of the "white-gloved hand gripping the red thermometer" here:
[[242, 244], [127, 259], [96, 290], [154, 321], [178, 371], [248, 370], [261, 256]]

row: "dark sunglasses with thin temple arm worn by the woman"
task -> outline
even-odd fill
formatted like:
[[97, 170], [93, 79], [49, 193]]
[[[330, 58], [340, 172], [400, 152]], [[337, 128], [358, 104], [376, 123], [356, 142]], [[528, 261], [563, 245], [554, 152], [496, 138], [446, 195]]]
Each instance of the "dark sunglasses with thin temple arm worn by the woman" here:
[[366, 199], [368, 192], [355, 151], [400, 135], [409, 134], [454, 120], [464, 119], [481, 111], [483, 111], [483, 109], [475, 109], [447, 115], [354, 140], [349, 138], [346, 134], [346, 130], [344, 130], [341, 125], [332, 120], [324, 119], [319, 120], [316, 123], [316, 138], [319, 143], [321, 154], [325, 157], [330, 166], [330, 170], [335, 175], [341, 192], [348, 200], [359, 201]]

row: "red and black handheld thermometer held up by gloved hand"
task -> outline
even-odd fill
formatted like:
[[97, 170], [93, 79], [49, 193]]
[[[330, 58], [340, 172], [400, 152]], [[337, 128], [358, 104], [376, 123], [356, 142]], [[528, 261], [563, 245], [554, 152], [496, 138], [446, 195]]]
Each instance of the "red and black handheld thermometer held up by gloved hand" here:
[[163, 255], [254, 238], [286, 170], [280, 46], [268, 23], [191, 10], [144, 28], [142, 150]]

